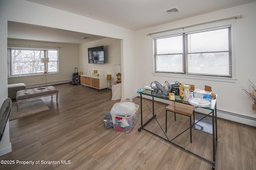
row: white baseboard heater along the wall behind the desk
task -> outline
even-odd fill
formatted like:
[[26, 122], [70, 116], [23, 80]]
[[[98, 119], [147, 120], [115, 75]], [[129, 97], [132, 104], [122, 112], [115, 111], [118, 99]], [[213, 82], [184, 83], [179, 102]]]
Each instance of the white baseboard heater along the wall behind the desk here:
[[[140, 94], [137, 94], [138, 97], [140, 97]], [[143, 96], [145, 99], [152, 99], [152, 97], [150, 96]], [[167, 101], [164, 99], [159, 99], [159, 98], [154, 98], [154, 101], [159, 101], [162, 103], [166, 103], [166, 104], [170, 104], [171, 101]], [[196, 109], [197, 112], [200, 113], [204, 113], [207, 114], [207, 111], [209, 112], [209, 110], [207, 109], [203, 109], [203, 108], [198, 108]], [[240, 123], [240, 124], [244, 124], [244, 125], [249, 125], [252, 127], [256, 127], [256, 118], [253, 117], [248, 117], [248, 116], [244, 116], [244, 115], [239, 115], [236, 113], [231, 113], [231, 112], [227, 112], [227, 111], [222, 111], [222, 110], [218, 110], [217, 109], [217, 117], [221, 118], [221, 119], [225, 119], [227, 121], [232, 121], [232, 122], [236, 122], [236, 123]]]

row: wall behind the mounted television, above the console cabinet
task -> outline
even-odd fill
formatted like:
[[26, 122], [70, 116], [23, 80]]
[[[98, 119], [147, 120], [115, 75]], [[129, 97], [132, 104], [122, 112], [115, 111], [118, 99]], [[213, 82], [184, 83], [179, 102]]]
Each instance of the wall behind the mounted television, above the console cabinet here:
[[[105, 64], [89, 64], [88, 48], [104, 45]], [[98, 70], [100, 75], [111, 74], [111, 85], [117, 80], [114, 73], [114, 65], [121, 64], [121, 40], [116, 38], [104, 38], [94, 42], [88, 42], [79, 45], [79, 71], [84, 74], [92, 70]]]

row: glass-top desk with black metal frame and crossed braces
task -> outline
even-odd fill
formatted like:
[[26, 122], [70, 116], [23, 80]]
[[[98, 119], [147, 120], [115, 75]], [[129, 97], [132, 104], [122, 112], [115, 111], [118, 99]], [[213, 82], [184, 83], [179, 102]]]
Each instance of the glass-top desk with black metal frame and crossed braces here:
[[[186, 148], [183, 148], [182, 146], [172, 142], [172, 140], [176, 137], [178, 137], [180, 134], [184, 133], [186, 130], [190, 129], [190, 127], [188, 127], [186, 130], [184, 130], [182, 133], [178, 134], [178, 136], [174, 137], [172, 140], [169, 140], [168, 137], [164, 138], [148, 129], [146, 129], [146, 125], [148, 123], [150, 123], [150, 121], [152, 121], [153, 119], [156, 119], [156, 114], [154, 113], [154, 98], [159, 98], [159, 99], [164, 99], [164, 100], [169, 100], [169, 97], [158, 97], [158, 96], [154, 96], [154, 95], [150, 95], [147, 93], [143, 93], [143, 92], [139, 92], [140, 94], [140, 116], [141, 116], [141, 127], [138, 128], [138, 131], [141, 130], [146, 130], [147, 132], [150, 132], [151, 134], [154, 134], [164, 140], [166, 140], [167, 142], [169, 142], [170, 144], [173, 144], [175, 146], [178, 146], [179, 148], [186, 150], [187, 152], [190, 152], [191, 154], [209, 162], [212, 164], [212, 169], [214, 169], [215, 167], [215, 158], [216, 158], [216, 149], [217, 149], [217, 142], [218, 142], [218, 137], [217, 137], [217, 96], [216, 95], [216, 99], [212, 99], [211, 100], [211, 107], [200, 107], [200, 108], [204, 108], [204, 109], [208, 109], [210, 110], [210, 113], [205, 114], [205, 115], [201, 115], [201, 114], [197, 114], [196, 118], [194, 118], [194, 122], [192, 123], [191, 127], [201, 131], [203, 133], [209, 134], [210, 136], [212, 136], [212, 154], [213, 154], [213, 160], [208, 160]], [[150, 119], [148, 119], [145, 123], [143, 123], [143, 114], [142, 114], [142, 99], [144, 100], [143, 96], [150, 96], [152, 97], [152, 111], [150, 110], [150, 108], [148, 107], [148, 109], [150, 110], [150, 112], [152, 113], [152, 117]], [[183, 103], [184, 105], [190, 105], [190, 103], [186, 102], [186, 101], [182, 101], [180, 100], [180, 98], [178, 96], [175, 96], [175, 101], [172, 100], [173, 102], [178, 102], [178, 103]], [[146, 103], [146, 101], [144, 101]], [[146, 103], [147, 105], [147, 103]], [[148, 106], [148, 105], [147, 105]], [[199, 112], [200, 113], [200, 112]], [[211, 115], [211, 117], [209, 117]], [[159, 125], [160, 126], [160, 125]], [[160, 126], [161, 127], [161, 126]], [[162, 129], [162, 127], [161, 127]], [[163, 129], [162, 129], [163, 130]], [[163, 130], [164, 132], [164, 130]], [[165, 134], [165, 132], [164, 132]], [[166, 135], [166, 134], [165, 134]]]

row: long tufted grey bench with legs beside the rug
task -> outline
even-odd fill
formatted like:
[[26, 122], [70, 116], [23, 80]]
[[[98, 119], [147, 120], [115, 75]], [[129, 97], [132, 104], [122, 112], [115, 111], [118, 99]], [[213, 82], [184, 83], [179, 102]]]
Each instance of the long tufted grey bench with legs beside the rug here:
[[56, 95], [56, 103], [58, 103], [58, 89], [53, 86], [37, 87], [33, 89], [20, 90], [16, 94], [17, 111], [19, 111], [19, 105], [21, 100], [53, 96]]

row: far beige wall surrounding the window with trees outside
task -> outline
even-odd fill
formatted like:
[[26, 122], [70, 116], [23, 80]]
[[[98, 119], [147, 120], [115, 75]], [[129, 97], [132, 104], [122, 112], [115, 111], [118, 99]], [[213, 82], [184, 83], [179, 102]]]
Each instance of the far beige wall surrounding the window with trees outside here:
[[[52, 83], [67, 83], [72, 79], [74, 68], [78, 67], [78, 45], [68, 43], [41, 42], [30, 40], [8, 39], [8, 44], [18, 45], [33, 45], [46, 47], [60, 47], [59, 49], [59, 73], [49, 73], [47, 75], [30, 75], [30, 76], [14, 76], [8, 77], [8, 84], [25, 83], [26, 88], [40, 87], [43, 85], [51, 85]], [[26, 46], [25, 46], [26, 47]]]

